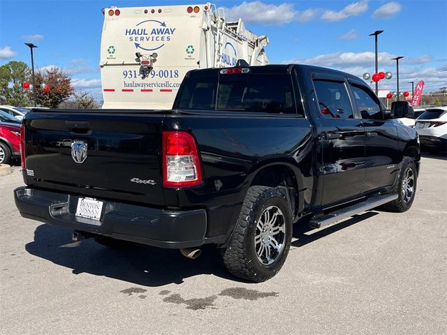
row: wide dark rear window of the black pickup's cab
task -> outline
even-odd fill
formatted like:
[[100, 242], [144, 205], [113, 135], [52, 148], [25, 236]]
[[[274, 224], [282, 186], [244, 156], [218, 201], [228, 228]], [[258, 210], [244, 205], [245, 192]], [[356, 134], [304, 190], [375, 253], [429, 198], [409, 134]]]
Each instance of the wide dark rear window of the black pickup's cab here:
[[295, 114], [290, 75], [229, 73], [184, 80], [177, 108]]

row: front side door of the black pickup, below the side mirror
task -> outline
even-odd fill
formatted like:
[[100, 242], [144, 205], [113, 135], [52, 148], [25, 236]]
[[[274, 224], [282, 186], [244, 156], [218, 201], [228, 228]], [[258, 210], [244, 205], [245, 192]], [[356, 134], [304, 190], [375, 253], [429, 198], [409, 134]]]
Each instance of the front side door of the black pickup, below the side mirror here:
[[393, 185], [398, 168], [397, 128], [384, 118], [383, 108], [376, 94], [365, 84], [350, 81], [356, 113], [365, 126], [366, 175], [364, 192], [379, 191]]

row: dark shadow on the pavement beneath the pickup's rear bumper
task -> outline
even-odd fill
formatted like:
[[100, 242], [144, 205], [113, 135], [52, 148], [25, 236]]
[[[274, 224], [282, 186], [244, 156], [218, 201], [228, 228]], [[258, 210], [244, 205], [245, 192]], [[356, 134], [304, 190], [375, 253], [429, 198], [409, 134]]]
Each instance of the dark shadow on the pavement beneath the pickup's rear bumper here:
[[182, 256], [177, 249], [161, 249], [129, 244], [120, 250], [101, 246], [93, 239], [71, 240], [71, 231], [54, 225], [40, 225], [34, 241], [25, 246], [31, 255], [73, 269], [73, 274], [107, 276], [137, 285], [161, 286], [183, 283], [184, 278], [212, 274], [238, 281], [226, 271], [217, 248], [203, 246], [196, 260]]

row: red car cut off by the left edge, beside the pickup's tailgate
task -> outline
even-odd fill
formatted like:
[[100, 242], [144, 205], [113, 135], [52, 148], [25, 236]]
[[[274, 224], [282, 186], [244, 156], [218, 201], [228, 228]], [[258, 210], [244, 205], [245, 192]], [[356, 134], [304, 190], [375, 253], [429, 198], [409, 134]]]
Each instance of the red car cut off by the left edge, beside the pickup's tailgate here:
[[0, 122], [0, 164], [20, 159], [20, 124]]

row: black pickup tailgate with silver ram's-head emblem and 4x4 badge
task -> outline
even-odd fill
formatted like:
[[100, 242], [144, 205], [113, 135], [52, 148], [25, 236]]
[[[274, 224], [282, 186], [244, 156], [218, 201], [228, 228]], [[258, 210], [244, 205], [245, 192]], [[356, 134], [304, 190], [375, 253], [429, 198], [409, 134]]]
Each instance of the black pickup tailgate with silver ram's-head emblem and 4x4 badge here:
[[163, 206], [164, 114], [29, 113], [25, 124], [29, 185], [90, 197]]

